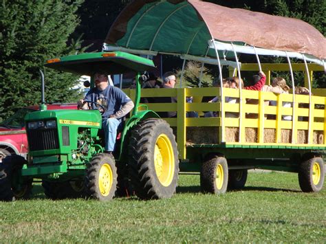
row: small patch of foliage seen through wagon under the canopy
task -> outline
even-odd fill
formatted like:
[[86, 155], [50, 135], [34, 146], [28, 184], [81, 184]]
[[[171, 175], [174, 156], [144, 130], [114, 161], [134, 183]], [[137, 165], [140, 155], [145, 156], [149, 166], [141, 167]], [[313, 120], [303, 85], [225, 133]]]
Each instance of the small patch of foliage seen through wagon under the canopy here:
[[[182, 69], [177, 69], [177, 84], [175, 87], [180, 87], [180, 78], [182, 76], [182, 87], [199, 87], [199, 80], [201, 75], [202, 63], [195, 61], [188, 61], [184, 68], [182, 75]], [[213, 82], [213, 76], [207, 67], [204, 67], [202, 74], [202, 87], [211, 87]]]

